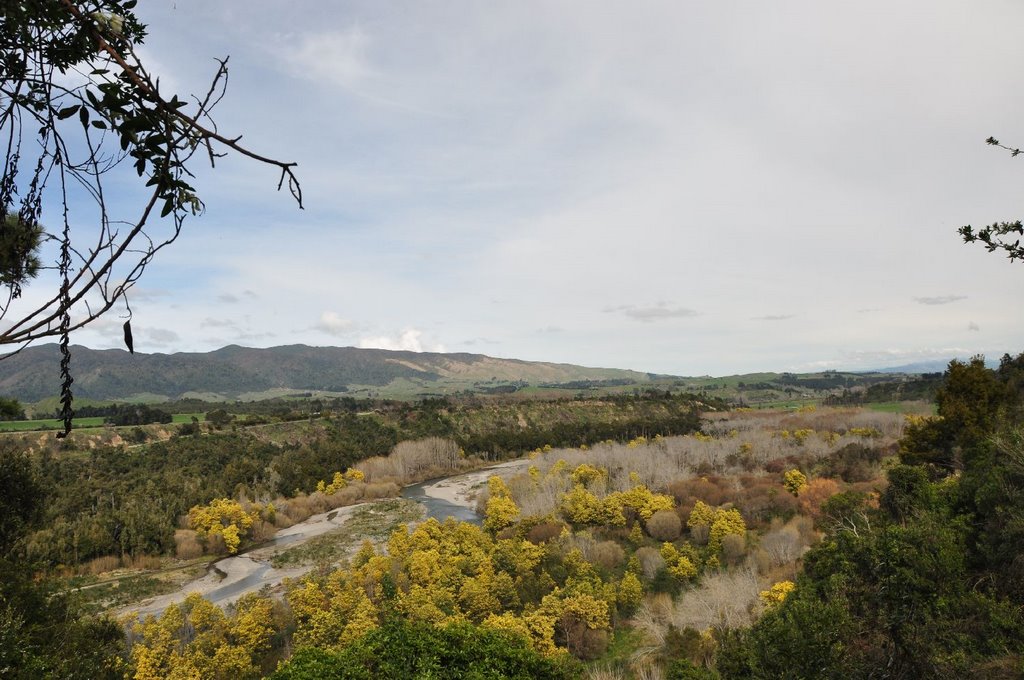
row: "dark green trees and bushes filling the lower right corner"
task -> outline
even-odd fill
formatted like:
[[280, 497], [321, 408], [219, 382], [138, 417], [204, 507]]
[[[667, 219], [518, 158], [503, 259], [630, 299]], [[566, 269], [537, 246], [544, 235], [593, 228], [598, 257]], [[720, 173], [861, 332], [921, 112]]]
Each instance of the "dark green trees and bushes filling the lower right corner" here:
[[840, 495], [797, 589], [722, 641], [725, 678], [1024, 674], [1024, 354], [950, 365], [879, 507]]

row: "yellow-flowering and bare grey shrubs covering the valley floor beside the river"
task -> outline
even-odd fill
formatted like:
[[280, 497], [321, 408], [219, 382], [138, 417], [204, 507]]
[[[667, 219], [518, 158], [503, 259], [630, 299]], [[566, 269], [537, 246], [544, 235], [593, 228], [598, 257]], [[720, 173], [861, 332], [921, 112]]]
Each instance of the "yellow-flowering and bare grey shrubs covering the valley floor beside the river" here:
[[[618, 677], [713, 665], [721, 631], [750, 626], [790, 594], [820, 538], [810, 513], [823, 500], [811, 492], [881, 491], [902, 422], [856, 410], [735, 413], [691, 435], [541, 447], [523, 466], [490, 477], [477, 499], [482, 526], [431, 519], [399, 527], [347, 563], [309, 572], [288, 589], [284, 618], [267, 620], [281, 644], [232, 653], [249, 660], [253, 677], [278, 668], [287, 649], [298, 652], [276, 677], [310, 669], [362, 677], [345, 675], [356, 673], [345, 669], [360, 645], [393, 635], [394, 626], [428, 625], [434, 635], [453, 626], [471, 637], [513, 635], [529, 654], [575, 676], [590, 671], [573, 658]], [[365, 483], [459, 458], [443, 440], [419, 449], [415, 462], [406, 444], [353, 469]], [[862, 466], [856, 481], [839, 474], [851, 460]], [[785, 486], [793, 470], [805, 479], [796, 495]], [[335, 475], [318, 493], [350, 485]], [[181, 638], [187, 624], [174, 617]], [[145, 626], [133, 629], [133, 658], [150, 653]], [[635, 632], [626, 661], [601, 662], [624, 630]]]

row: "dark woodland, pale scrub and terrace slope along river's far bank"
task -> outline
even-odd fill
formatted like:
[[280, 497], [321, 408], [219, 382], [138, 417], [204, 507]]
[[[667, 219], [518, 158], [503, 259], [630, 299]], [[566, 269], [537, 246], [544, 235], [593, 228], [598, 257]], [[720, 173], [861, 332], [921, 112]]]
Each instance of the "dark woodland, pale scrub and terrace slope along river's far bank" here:
[[[272, 505], [273, 518], [257, 517], [245, 527], [233, 524], [236, 529], [220, 522], [228, 543], [240, 548], [312, 514], [395, 496], [401, 485], [481, 465], [496, 452], [521, 453], [516, 441], [539, 436], [529, 426], [535, 419], [551, 421], [542, 432], [553, 441], [587, 443], [588, 432], [635, 436], [647, 427], [645, 419], [666, 432], [691, 431], [699, 425], [697, 406], [691, 397], [664, 394], [538, 403], [435, 400], [249, 427], [225, 427], [216, 424], [224, 419], [216, 419], [185, 424], [175, 436], [141, 445], [57, 445], [52, 435], [42, 435], [46, 442], [40, 445], [36, 435], [33, 456], [47, 502], [27, 537], [28, 552], [46, 568], [93, 571], [111, 559], [131, 565], [147, 556], [230, 552], [221, 530], [190, 533], [197, 529], [185, 518], [193, 508], [232, 500], [258, 514], [257, 507]], [[512, 430], [510, 421], [516, 423]], [[575, 425], [552, 434], [562, 423]], [[29, 436], [6, 440], [16, 447]], [[89, 441], [91, 435], [81, 436], [79, 441]], [[327, 486], [334, 473], [351, 469], [365, 478], [317, 491], [318, 482]]]

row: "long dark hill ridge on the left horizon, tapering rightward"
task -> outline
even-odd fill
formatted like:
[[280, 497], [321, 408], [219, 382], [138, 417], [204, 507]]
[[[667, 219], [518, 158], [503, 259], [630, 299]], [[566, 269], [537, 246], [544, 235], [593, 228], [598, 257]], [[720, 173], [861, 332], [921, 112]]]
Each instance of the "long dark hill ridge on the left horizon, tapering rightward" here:
[[[26, 402], [59, 391], [55, 344], [29, 347], [0, 362], [0, 395]], [[495, 358], [483, 354], [391, 351], [287, 345], [254, 349], [229, 345], [206, 353], [134, 355], [122, 349], [72, 347], [76, 398], [161, 401], [263, 398], [294, 392], [381, 396], [514, 391], [531, 385], [643, 384], [636, 371], [590, 369]]]

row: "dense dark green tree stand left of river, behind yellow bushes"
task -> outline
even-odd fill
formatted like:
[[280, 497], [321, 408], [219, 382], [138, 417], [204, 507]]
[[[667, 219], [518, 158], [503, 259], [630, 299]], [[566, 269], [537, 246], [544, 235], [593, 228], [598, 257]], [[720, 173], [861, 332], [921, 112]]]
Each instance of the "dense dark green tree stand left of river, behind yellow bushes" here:
[[49, 490], [45, 528], [29, 538], [29, 552], [49, 566], [168, 554], [179, 517], [195, 505], [309, 492], [332, 471], [386, 455], [397, 442], [397, 430], [377, 419], [345, 416], [307, 444], [212, 433], [50, 457], [41, 465]]

